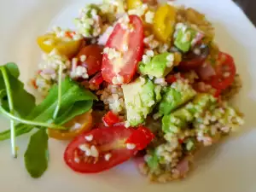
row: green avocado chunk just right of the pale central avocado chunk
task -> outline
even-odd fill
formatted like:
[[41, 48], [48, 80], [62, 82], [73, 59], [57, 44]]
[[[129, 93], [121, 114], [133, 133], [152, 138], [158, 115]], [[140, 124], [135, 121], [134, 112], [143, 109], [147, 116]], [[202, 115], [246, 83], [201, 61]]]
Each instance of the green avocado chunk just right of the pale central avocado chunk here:
[[164, 90], [162, 100], [159, 105], [159, 113], [169, 114], [186, 102], [192, 100], [196, 95], [195, 90], [186, 82], [177, 80]]

